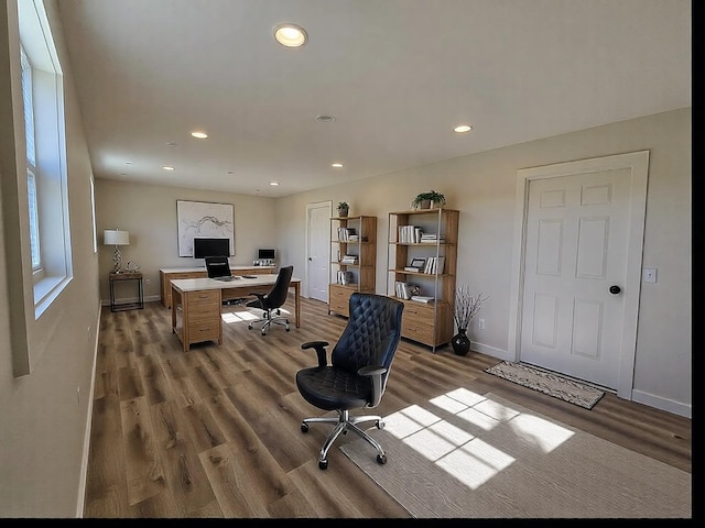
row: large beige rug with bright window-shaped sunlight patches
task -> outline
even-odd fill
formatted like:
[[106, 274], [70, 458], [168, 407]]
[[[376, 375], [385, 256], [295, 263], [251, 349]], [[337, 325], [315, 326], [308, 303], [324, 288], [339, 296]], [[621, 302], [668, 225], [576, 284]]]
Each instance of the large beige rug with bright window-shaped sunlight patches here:
[[416, 518], [691, 518], [691, 474], [459, 388], [340, 447]]

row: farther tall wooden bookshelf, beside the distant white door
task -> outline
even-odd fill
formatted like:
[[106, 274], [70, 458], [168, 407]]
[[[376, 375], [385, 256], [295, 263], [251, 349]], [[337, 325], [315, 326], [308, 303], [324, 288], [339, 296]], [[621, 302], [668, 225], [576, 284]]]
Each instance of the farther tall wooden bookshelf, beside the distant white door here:
[[352, 293], [375, 293], [377, 217], [330, 218], [330, 261], [328, 314], [349, 317]]

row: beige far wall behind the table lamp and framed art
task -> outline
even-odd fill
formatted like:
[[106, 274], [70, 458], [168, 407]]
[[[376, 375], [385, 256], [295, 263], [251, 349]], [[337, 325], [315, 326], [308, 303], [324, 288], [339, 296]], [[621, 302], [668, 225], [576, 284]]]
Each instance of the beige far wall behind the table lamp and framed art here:
[[122, 265], [127, 266], [128, 261], [139, 264], [148, 301], [160, 298], [160, 268], [205, 268], [203, 258], [178, 256], [176, 200], [232, 204], [235, 256], [230, 257], [230, 264], [252, 265], [258, 248], [276, 246], [273, 198], [96, 178], [100, 298], [104, 305], [110, 299], [108, 275], [113, 270], [115, 250], [115, 246], [102, 245], [104, 229], [119, 228], [130, 232], [130, 245], [120, 249]]

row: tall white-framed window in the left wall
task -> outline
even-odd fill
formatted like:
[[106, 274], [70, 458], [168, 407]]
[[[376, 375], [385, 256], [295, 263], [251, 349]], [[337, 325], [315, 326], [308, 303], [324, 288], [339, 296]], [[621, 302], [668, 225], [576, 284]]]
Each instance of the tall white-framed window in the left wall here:
[[72, 278], [63, 75], [42, 0], [19, 0], [26, 211], [39, 318]]

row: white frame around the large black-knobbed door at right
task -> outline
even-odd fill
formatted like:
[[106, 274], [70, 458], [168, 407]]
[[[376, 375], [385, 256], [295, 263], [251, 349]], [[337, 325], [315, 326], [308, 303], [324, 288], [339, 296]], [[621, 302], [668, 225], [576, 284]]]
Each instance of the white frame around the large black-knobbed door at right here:
[[629, 197], [629, 229], [627, 271], [625, 280], [623, 327], [620, 342], [619, 386], [617, 396], [631, 400], [634, 358], [637, 352], [637, 322], [641, 293], [641, 266], [643, 230], [647, 213], [647, 182], [649, 151], [556, 163], [517, 172], [514, 205], [514, 241], [512, 244], [511, 294], [509, 306], [508, 354], [511, 361], [521, 360], [522, 299], [524, 293], [524, 266], [527, 221], [529, 213], [529, 184], [534, 179], [581, 175], [590, 172], [629, 169], [631, 194]]

